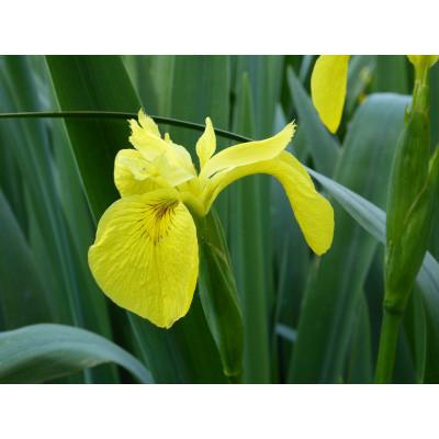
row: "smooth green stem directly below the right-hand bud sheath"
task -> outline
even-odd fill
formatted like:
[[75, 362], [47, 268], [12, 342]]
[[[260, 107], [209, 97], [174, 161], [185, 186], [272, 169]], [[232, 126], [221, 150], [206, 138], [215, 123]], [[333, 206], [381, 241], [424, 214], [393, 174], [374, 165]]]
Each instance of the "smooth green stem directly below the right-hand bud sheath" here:
[[384, 308], [376, 361], [376, 384], [389, 384], [392, 382], [402, 317], [402, 313], [394, 313]]

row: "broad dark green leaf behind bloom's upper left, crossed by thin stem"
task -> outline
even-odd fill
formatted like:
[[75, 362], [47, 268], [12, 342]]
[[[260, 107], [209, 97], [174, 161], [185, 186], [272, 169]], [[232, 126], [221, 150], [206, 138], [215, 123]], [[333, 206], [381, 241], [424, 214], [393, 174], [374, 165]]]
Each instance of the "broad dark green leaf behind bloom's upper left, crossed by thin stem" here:
[[[61, 110], [137, 112], [140, 103], [119, 57], [48, 56], [52, 80]], [[123, 90], [123, 93], [122, 93]], [[123, 94], [123, 95], [122, 95]], [[99, 218], [117, 198], [114, 157], [128, 147], [126, 121], [66, 120], [91, 211]]]

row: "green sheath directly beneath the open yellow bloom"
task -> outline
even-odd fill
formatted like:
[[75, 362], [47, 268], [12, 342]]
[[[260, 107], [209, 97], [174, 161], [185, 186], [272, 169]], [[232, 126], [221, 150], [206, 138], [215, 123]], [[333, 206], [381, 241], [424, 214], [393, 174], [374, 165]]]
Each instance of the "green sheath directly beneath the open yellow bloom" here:
[[239, 381], [243, 372], [244, 326], [223, 227], [215, 212], [198, 224], [199, 292], [207, 325], [219, 350], [224, 373]]

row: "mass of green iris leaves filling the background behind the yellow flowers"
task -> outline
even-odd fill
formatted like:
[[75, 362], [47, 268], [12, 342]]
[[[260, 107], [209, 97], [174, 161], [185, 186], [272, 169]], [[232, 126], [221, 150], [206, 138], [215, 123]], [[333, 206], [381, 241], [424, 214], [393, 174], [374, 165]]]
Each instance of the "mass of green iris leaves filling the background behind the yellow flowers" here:
[[[335, 207], [330, 251], [311, 254], [270, 178], [248, 177], [216, 202], [244, 317], [246, 383], [373, 378], [387, 182], [413, 69], [403, 56], [353, 56], [333, 136], [309, 99], [315, 59], [0, 58], [0, 113], [144, 106], [195, 123], [210, 115], [215, 127], [254, 138], [296, 120], [290, 149], [317, 172]], [[438, 117], [439, 65], [431, 70], [432, 145]], [[199, 132], [161, 127], [194, 153]], [[198, 293], [189, 315], [165, 330], [116, 307], [90, 274], [87, 250], [97, 221], [117, 198], [113, 161], [127, 137], [123, 120], [0, 120], [0, 382], [227, 382]], [[223, 138], [219, 147], [233, 143]], [[404, 317], [395, 382], [439, 382], [437, 223]]]

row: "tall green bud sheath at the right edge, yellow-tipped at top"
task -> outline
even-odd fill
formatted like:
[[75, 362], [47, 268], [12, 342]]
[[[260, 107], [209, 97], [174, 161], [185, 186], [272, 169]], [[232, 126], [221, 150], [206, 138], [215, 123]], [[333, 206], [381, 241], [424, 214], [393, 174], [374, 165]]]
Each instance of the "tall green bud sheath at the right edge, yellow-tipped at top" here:
[[[414, 63], [415, 64], [415, 63]], [[429, 63], [417, 60], [412, 109], [391, 175], [385, 249], [385, 308], [402, 313], [425, 257], [432, 221], [438, 154], [429, 160]]]

